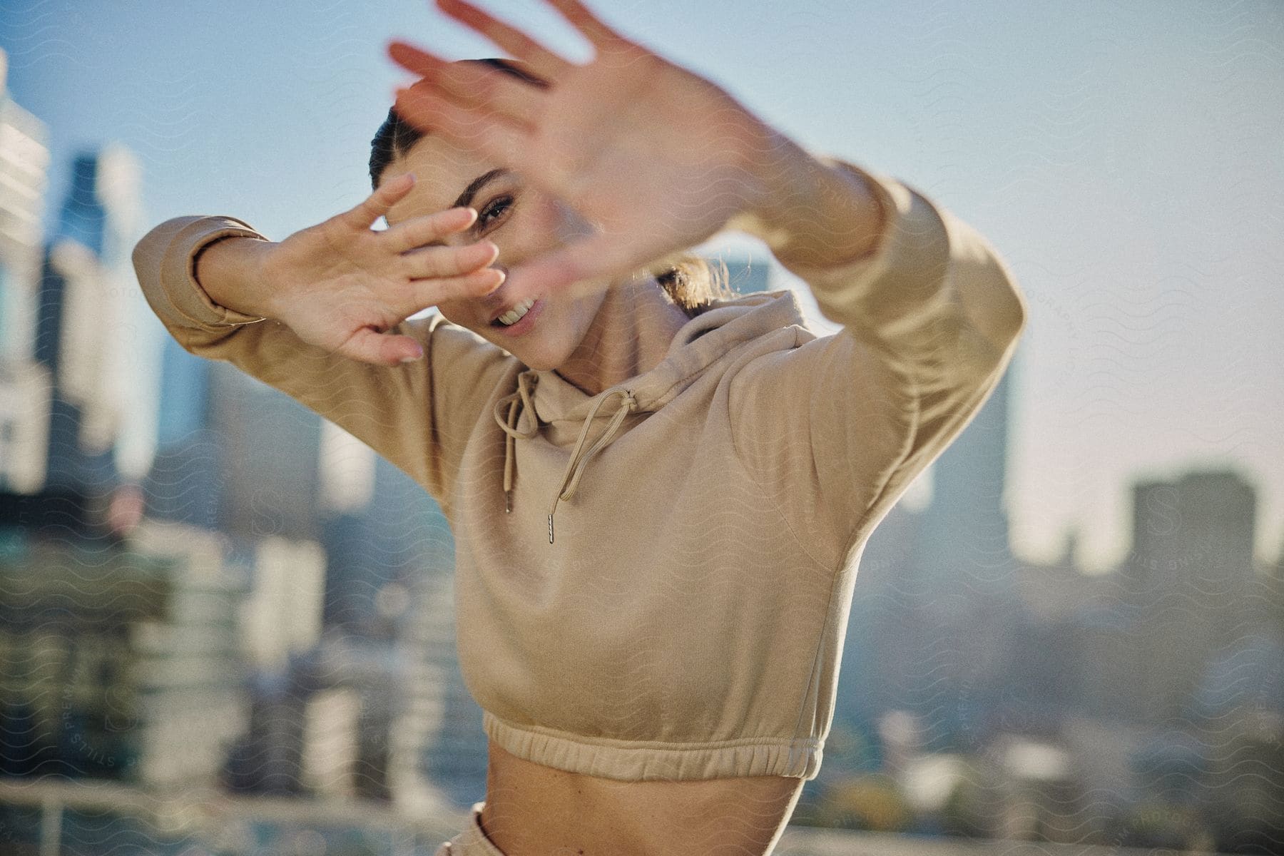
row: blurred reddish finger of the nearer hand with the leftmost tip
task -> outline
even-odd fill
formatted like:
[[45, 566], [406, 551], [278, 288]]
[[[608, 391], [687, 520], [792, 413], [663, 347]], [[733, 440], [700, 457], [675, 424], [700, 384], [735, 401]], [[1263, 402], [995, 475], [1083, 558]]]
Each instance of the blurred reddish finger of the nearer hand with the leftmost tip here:
[[392, 42], [388, 55], [465, 107], [482, 107], [519, 124], [533, 126], [546, 95], [538, 86], [483, 63], [448, 63], [404, 42]]

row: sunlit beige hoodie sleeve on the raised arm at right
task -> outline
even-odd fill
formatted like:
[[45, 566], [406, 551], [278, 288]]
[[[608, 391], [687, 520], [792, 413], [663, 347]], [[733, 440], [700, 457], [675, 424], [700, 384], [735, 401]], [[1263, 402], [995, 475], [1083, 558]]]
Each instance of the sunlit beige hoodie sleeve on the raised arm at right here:
[[844, 329], [797, 330], [795, 348], [737, 375], [728, 404], [740, 459], [813, 558], [837, 566], [985, 403], [1026, 309], [971, 226], [895, 178], [826, 160], [867, 180], [882, 235], [847, 264], [786, 266]]

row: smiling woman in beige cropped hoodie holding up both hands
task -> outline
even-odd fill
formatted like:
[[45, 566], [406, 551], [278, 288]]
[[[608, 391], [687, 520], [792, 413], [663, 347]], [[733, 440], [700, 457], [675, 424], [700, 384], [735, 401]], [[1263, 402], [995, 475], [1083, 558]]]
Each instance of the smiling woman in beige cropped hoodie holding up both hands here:
[[[421, 80], [365, 203], [280, 244], [168, 221], [139, 280], [189, 352], [447, 515], [489, 770], [439, 855], [765, 853], [819, 770], [860, 551], [998, 382], [1023, 300], [944, 208], [550, 3], [592, 62], [439, 0], [516, 62], [394, 44]], [[790, 291], [701, 293], [675, 259], [724, 228], [842, 331]]]

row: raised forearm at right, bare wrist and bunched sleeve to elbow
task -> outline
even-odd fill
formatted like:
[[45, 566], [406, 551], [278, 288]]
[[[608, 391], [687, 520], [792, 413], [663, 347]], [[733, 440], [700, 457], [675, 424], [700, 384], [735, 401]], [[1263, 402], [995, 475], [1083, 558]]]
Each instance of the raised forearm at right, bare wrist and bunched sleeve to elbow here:
[[729, 225], [764, 240], [827, 318], [894, 338], [900, 352], [937, 348], [942, 323], [973, 329], [999, 353], [1019, 335], [1025, 300], [975, 228], [903, 182], [813, 157], [770, 128], [756, 151], [752, 204]]

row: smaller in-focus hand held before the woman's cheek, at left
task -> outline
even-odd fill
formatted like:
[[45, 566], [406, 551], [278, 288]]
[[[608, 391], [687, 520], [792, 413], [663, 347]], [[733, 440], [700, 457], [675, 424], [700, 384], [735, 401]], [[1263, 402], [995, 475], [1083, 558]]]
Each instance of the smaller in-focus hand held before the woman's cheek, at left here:
[[476, 219], [451, 208], [392, 228], [371, 226], [413, 187], [413, 176], [386, 181], [363, 203], [262, 248], [256, 280], [267, 316], [303, 341], [352, 359], [395, 366], [424, 355], [420, 341], [385, 331], [443, 300], [489, 294], [503, 272], [490, 241], [424, 246]]

